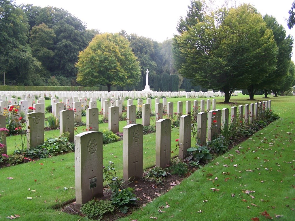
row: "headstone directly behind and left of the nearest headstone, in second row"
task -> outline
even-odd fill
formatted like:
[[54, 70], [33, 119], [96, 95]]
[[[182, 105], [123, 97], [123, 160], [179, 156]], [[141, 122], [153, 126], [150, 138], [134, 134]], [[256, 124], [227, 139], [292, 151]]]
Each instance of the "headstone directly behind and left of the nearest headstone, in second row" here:
[[60, 111], [60, 135], [69, 132], [69, 142], [74, 142], [74, 111], [61, 110]]

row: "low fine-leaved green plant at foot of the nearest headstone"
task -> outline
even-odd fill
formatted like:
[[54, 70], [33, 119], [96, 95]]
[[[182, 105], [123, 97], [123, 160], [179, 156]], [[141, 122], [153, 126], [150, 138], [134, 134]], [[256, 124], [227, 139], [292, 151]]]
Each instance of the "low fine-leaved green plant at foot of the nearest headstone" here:
[[115, 206], [109, 200], [95, 200], [84, 203], [80, 212], [86, 215], [88, 219], [99, 219], [104, 214], [114, 212]]

